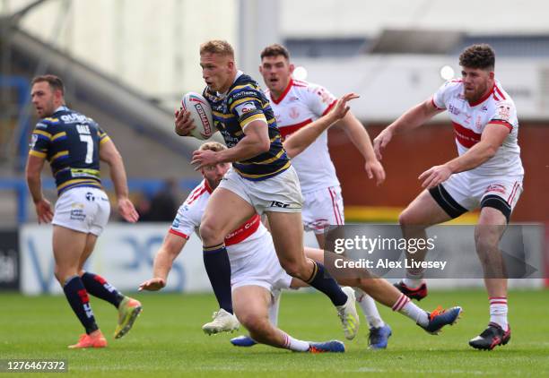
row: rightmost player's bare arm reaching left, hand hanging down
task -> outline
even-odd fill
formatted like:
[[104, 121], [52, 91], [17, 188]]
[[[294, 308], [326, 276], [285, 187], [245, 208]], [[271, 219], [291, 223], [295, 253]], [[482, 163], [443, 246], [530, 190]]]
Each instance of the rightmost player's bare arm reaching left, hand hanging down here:
[[405, 114], [399, 116], [395, 122], [388, 125], [379, 135], [374, 139], [373, 148], [376, 153], [376, 157], [381, 160], [381, 151], [387, 147], [388, 142], [391, 141], [393, 135], [405, 131], [413, 130], [416, 127], [423, 125], [430, 120], [433, 116], [444, 111], [435, 107], [431, 99], [427, 99], [415, 107], [408, 109]]

